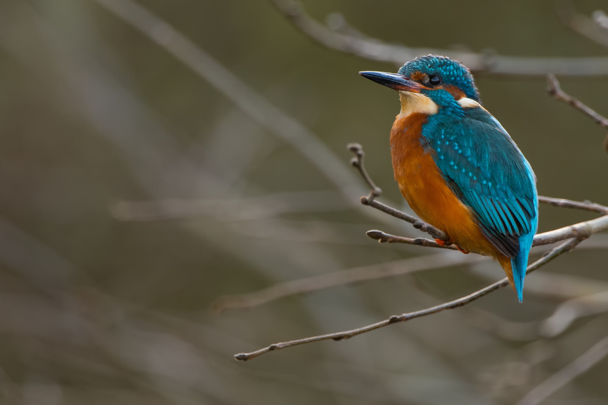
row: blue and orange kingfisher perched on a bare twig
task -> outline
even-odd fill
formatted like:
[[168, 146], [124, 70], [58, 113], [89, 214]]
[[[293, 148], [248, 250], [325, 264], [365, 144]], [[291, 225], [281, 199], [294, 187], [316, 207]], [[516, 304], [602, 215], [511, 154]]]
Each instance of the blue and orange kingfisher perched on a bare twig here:
[[482, 107], [469, 69], [427, 55], [396, 74], [359, 74], [399, 92], [401, 112], [390, 132], [390, 151], [395, 180], [410, 207], [463, 253], [498, 260], [521, 302], [538, 225], [536, 177], [499, 121]]

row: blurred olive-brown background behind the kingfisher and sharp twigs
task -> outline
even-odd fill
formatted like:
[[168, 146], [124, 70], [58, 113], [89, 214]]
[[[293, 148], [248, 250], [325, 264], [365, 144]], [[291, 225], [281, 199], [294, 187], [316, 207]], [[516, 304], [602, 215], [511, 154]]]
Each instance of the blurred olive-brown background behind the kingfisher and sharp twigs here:
[[[136, 5], [0, 2], [0, 403], [514, 404], [608, 335], [608, 238], [598, 234], [531, 274], [523, 304], [504, 288], [347, 341], [235, 361], [455, 299], [503, 274], [483, 261], [239, 296], [460, 257], [365, 236], [421, 236], [359, 204], [367, 191], [345, 148], [361, 143], [381, 200], [408, 209], [390, 163], [398, 97], [357, 74], [397, 66], [314, 43], [269, 1]], [[606, 55], [548, 0], [303, 7], [330, 27], [345, 19], [412, 47]], [[133, 26], [154, 15], [198, 48], [180, 47], [168, 26], [156, 24], [156, 43]], [[540, 194], [608, 204], [605, 129], [549, 97], [542, 75], [476, 78]], [[559, 79], [608, 115], [608, 76]], [[539, 231], [594, 216], [541, 206]], [[600, 352], [528, 404], [608, 403]]]

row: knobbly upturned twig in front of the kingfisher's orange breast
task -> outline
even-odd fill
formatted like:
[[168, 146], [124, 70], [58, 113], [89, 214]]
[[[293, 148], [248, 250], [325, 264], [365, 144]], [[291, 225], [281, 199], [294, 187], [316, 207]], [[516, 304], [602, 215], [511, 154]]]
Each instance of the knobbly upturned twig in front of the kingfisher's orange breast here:
[[406, 214], [402, 211], [399, 211], [398, 209], [395, 209], [392, 206], [388, 206], [384, 203], [376, 201], [376, 197], [379, 197], [382, 194], [382, 189], [378, 188], [371, 180], [370, 175], [367, 174], [364, 162], [365, 152], [363, 151], [362, 146], [358, 143], [349, 143], [348, 149], [356, 155], [356, 157], [351, 160], [351, 164], [359, 169], [359, 172], [364, 177], [365, 182], [367, 182], [367, 184], [370, 186], [370, 194], [367, 197], [361, 197], [361, 203], [363, 205], [369, 205], [373, 208], [378, 209], [379, 211], [382, 211], [383, 213], [409, 222], [413, 225], [414, 228], [426, 232], [435, 239], [441, 239], [444, 242], [449, 242], [449, 237], [447, 237], [447, 234], [444, 231], [435, 228], [435, 226], [430, 225], [429, 223], [426, 223], [423, 220], [416, 218], [415, 216], [411, 216], [410, 214]]

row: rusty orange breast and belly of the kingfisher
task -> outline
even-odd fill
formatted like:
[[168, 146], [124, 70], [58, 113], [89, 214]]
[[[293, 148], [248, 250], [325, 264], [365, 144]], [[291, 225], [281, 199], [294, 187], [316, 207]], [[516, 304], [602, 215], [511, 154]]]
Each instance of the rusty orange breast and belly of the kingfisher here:
[[[393, 171], [401, 194], [421, 219], [447, 233], [453, 243], [469, 252], [503, 259], [503, 254], [483, 235], [470, 209], [449, 189], [433, 157], [421, 146], [425, 122], [424, 114], [398, 115], [390, 132]], [[504, 259], [500, 261], [502, 264]]]

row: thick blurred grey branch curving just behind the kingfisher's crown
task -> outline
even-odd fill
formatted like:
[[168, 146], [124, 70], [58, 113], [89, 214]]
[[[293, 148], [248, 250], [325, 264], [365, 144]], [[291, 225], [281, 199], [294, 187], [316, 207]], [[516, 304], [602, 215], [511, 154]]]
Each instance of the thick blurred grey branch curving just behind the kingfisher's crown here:
[[[369, 60], [392, 62], [401, 66], [416, 56], [437, 53], [449, 56], [465, 64], [471, 70], [510, 75], [546, 75], [553, 72], [559, 75], [606, 75], [608, 58], [541, 58], [525, 56], [502, 56], [488, 53], [460, 52], [457, 50], [410, 48], [387, 44], [379, 39], [365, 35], [337, 32], [316, 19], [311, 18], [295, 1], [271, 0], [277, 9], [295, 27], [319, 44], [340, 52], [351, 53]], [[345, 25], [344, 18], [342, 24]]]

